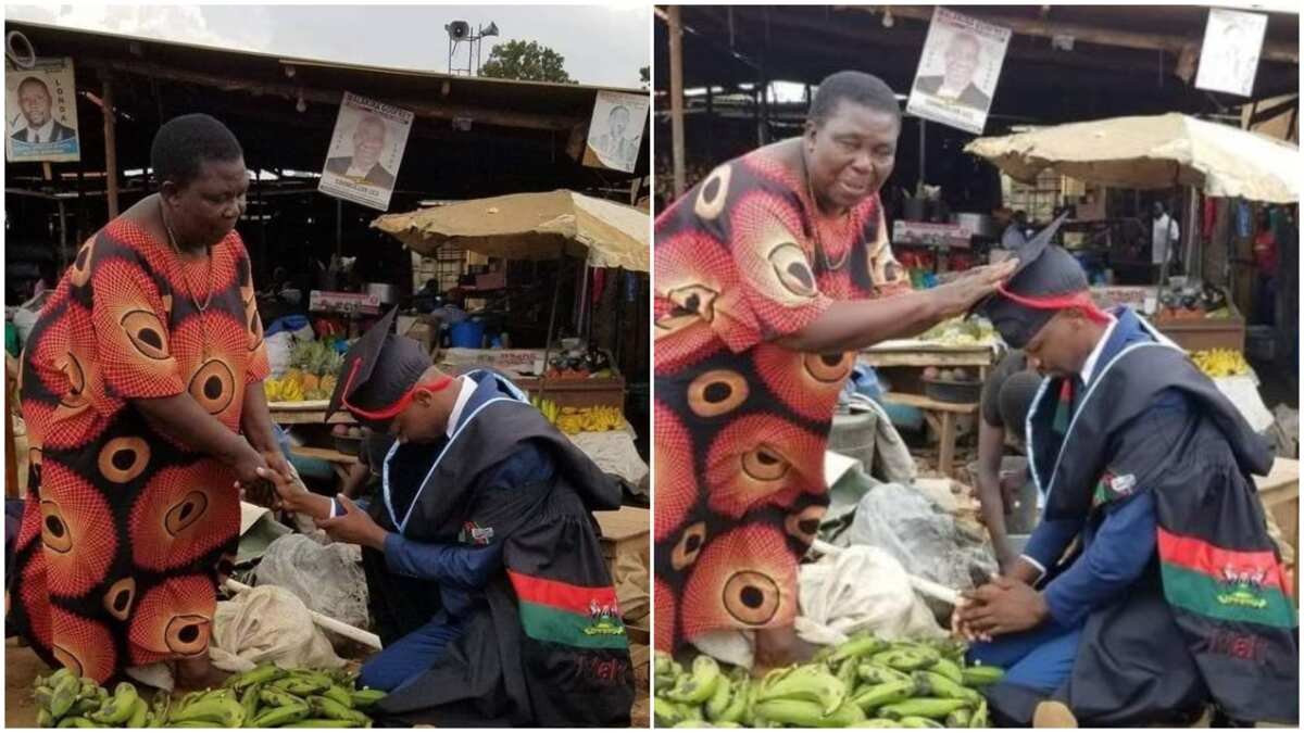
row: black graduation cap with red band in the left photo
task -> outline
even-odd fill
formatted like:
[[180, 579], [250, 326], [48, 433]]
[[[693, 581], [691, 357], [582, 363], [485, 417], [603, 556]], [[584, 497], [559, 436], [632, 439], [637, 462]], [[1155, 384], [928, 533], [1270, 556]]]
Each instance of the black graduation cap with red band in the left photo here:
[[421, 342], [391, 333], [396, 314], [398, 308], [386, 313], [348, 350], [326, 407], [327, 419], [348, 410], [359, 423], [383, 433], [393, 416], [369, 417], [361, 412], [385, 413], [430, 368], [430, 356]]

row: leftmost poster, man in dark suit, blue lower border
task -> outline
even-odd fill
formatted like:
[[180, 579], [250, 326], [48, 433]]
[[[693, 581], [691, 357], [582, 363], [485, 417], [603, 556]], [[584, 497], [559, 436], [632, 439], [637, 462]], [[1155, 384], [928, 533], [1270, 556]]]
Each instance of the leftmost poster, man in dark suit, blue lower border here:
[[81, 160], [72, 59], [5, 63], [5, 158], [10, 163]]

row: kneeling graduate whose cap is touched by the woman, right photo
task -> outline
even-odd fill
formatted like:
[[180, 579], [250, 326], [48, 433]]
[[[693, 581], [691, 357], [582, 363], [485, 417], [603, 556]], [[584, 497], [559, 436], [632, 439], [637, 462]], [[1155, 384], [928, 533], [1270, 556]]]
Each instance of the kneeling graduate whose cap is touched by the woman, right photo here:
[[1008, 669], [992, 713], [1171, 724], [1211, 702], [1232, 721], [1294, 724], [1296, 617], [1251, 477], [1271, 466], [1266, 442], [1141, 317], [1095, 308], [1077, 262], [1046, 244], [1054, 228], [979, 307], [1046, 377], [1028, 432], [1042, 523], [956, 612], [986, 639], [970, 656]]

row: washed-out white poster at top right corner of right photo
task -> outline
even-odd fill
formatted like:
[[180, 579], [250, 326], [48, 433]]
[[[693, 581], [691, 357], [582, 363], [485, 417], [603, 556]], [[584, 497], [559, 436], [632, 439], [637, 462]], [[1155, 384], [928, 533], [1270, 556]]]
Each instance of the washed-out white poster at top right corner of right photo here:
[[1210, 8], [1196, 87], [1249, 97], [1266, 30], [1267, 16], [1261, 13]]

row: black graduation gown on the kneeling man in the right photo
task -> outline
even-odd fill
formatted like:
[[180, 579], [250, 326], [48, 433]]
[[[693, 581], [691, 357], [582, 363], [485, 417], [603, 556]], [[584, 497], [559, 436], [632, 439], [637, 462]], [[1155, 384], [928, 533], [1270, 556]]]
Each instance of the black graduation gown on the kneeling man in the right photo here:
[[[1179, 348], [1134, 314], [1121, 318], [1155, 340], [1098, 366], [1063, 438], [1061, 385], [1043, 383], [1028, 419], [1029, 462], [1047, 520], [1098, 522], [1108, 503], [1151, 492], [1158, 562], [1088, 617], [1056, 696], [1088, 725], [1161, 723], [1210, 698], [1232, 719], [1295, 723], [1296, 617], [1251, 477], [1273, 456]], [[1140, 419], [1172, 389], [1191, 410]]]

